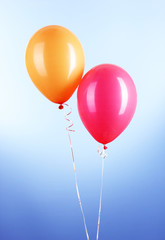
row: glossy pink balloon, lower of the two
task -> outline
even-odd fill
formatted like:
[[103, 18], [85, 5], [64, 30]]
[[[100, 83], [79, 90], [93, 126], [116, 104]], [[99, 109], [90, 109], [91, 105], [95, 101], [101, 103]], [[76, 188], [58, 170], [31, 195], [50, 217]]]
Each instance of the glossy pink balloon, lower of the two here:
[[122, 68], [102, 64], [92, 68], [77, 92], [80, 118], [94, 139], [107, 144], [130, 123], [137, 104], [133, 80]]

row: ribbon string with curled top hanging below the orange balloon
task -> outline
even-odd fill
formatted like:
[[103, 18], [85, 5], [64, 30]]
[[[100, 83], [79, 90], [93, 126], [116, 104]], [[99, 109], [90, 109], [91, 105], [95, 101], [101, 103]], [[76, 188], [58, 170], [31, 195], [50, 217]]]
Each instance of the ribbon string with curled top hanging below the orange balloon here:
[[72, 142], [71, 142], [71, 137], [70, 137], [70, 132], [75, 132], [75, 130], [71, 129], [71, 127], [73, 126], [73, 122], [68, 118], [68, 115], [70, 115], [71, 112], [72, 112], [72, 108], [71, 108], [68, 104], [66, 104], [66, 103], [65, 103], [64, 105], [70, 108], [70, 111], [69, 111], [68, 113], [64, 113], [65, 119], [66, 119], [68, 122], [71, 123], [68, 127], [66, 127], [66, 130], [67, 130], [67, 132], [68, 132], [69, 144], [70, 144], [70, 149], [71, 149], [71, 153], [72, 153], [72, 162], [73, 162], [73, 169], [74, 169], [74, 175], [75, 175], [75, 184], [76, 184], [77, 198], [78, 198], [78, 201], [79, 201], [79, 205], [80, 205], [80, 209], [81, 209], [81, 213], [82, 213], [82, 217], [83, 217], [83, 222], [84, 222], [86, 237], [87, 237], [87, 240], [89, 240], [89, 234], [88, 234], [87, 225], [86, 225], [86, 221], [85, 221], [85, 215], [84, 215], [84, 211], [83, 211], [83, 207], [82, 207], [82, 202], [81, 202], [81, 198], [80, 198], [80, 193], [79, 193], [79, 188], [78, 188], [76, 166], [75, 166], [75, 160], [74, 160], [74, 154], [73, 154], [73, 147], [72, 147]]

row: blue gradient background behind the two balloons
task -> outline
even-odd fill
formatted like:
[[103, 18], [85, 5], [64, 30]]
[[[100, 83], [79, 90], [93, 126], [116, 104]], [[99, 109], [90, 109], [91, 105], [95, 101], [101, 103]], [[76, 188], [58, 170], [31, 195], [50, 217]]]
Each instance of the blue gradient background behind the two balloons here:
[[[0, 239], [85, 239], [63, 112], [32, 84], [26, 45], [41, 27], [61, 25], [80, 39], [85, 72], [124, 68], [137, 87], [129, 127], [108, 145], [100, 240], [165, 239], [165, 2], [0, 2]], [[101, 160], [98, 143], [69, 100], [78, 183], [95, 239]]]

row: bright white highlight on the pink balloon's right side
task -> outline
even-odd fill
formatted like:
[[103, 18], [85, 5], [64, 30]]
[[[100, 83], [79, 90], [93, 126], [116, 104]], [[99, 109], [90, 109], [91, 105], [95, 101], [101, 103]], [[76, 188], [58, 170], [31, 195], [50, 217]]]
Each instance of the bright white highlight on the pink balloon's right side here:
[[127, 90], [127, 86], [125, 85], [125, 82], [123, 81], [123, 79], [120, 77], [118, 77], [117, 79], [118, 79], [118, 81], [120, 83], [120, 87], [121, 87], [122, 102], [121, 102], [121, 107], [120, 107], [120, 111], [119, 111], [119, 115], [121, 115], [125, 112], [125, 109], [127, 107], [128, 90]]

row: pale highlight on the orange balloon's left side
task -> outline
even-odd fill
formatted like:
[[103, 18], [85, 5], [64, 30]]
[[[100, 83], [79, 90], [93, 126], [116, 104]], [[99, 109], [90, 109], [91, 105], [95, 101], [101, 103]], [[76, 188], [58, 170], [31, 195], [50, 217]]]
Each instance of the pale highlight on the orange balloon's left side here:
[[47, 71], [44, 63], [44, 43], [38, 43], [34, 48], [34, 63], [37, 72], [41, 77], [47, 76]]

